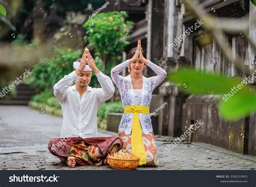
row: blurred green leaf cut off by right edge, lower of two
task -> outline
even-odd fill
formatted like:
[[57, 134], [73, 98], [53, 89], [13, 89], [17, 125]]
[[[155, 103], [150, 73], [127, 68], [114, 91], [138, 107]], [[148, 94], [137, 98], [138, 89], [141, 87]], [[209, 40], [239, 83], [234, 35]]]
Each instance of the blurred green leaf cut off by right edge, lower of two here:
[[225, 120], [233, 121], [246, 117], [256, 111], [256, 94], [235, 93], [228, 100], [222, 99], [219, 108]]

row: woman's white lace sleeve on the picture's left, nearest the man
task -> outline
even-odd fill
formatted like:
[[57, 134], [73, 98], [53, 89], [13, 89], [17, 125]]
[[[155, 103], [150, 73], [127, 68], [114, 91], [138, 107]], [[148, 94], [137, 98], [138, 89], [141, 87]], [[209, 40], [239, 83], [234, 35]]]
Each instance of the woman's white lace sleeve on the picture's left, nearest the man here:
[[127, 66], [129, 66], [130, 62], [129, 60], [124, 61], [122, 64], [117, 65], [116, 67], [112, 68], [111, 70], [111, 78], [114, 82], [114, 84], [117, 85], [118, 89], [121, 88], [121, 82], [124, 79], [119, 73], [121, 73]]

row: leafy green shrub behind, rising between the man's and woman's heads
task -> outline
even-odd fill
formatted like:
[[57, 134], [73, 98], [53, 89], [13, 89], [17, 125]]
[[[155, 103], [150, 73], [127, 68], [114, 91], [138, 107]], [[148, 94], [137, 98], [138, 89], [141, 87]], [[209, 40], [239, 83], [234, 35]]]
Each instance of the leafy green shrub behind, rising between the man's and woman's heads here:
[[95, 47], [95, 56], [102, 59], [103, 72], [110, 74], [110, 70], [117, 60], [121, 59], [121, 52], [129, 44], [125, 36], [129, 33], [128, 26], [132, 22], [125, 20], [127, 13], [103, 12], [88, 19], [83, 27], [86, 29], [85, 41], [89, 40], [91, 46]]

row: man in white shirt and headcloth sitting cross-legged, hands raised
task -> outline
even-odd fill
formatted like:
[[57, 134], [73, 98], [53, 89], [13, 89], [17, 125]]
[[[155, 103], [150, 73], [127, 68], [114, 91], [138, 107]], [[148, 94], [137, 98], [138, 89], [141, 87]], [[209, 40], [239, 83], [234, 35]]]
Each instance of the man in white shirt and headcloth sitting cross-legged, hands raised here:
[[[86, 62], [89, 64], [86, 65]], [[102, 165], [108, 153], [123, 147], [118, 136], [96, 137], [97, 110], [101, 103], [114, 93], [112, 80], [98, 70], [89, 50], [85, 49], [82, 59], [73, 63], [75, 71], [65, 75], [53, 86], [53, 93], [62, 107], [63, 124], [61, 138], [48, 144], [49, 151], [70, 167], [80, 165]], [[102, 88], [89, 85], [92, 71]], [[69, 84], [76, 80], [76, 84]]]

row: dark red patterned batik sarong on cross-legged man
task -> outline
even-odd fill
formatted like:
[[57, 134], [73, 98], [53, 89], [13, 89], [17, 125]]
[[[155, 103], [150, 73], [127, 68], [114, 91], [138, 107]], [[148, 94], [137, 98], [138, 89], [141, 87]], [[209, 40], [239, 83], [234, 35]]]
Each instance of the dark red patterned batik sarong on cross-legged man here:
[[[103, 154], [102, 158], [95, 157], [97, 147], [99, 153]], [[117, 152], [122, 147], [123, 141], [118, 136], [55, 138], [48, 144], [50, 153], [58, 156], [61, 162], [66, 162], [69, 156], [74, 156], [80, 165], [103, 165], [107, 154]]]

